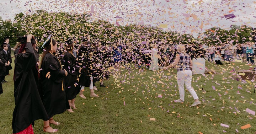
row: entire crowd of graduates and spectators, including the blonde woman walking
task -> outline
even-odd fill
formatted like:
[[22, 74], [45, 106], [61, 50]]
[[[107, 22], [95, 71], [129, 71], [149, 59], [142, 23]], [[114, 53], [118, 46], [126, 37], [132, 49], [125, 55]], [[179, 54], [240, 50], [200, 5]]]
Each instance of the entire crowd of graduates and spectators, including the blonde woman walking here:
[[[68, 39], [60, 43], [53, 37], [48, 37], [43, 43], [42, 59], [39, 60], [37, 39], [32, 34], [18, 37], [15, 46], [14, 97], [12, 129], [14, 134], [33, 133], [34, 120], [44, 120], [44, 132], [55, 133], [58, 130], [50, 124], [60, 125], [53, 119], [56, 114], [76, 109], [75, 98], [79, 94], [86, 98], [84, 91], [89, 87], [90, 97], [99, 97], [95, 83], [110, 77], [111, 69], [119, 69], [121, 65], [130, 69], [132, 64], [141, 69], [168, 69], [177, 67], [177, 83], [180, 99], [184, 102], [184, 84], [194, 98], [191, 106], [198, 106], [196, 92], [191, 86], [192, 59], [208, 58], [215, 64], [230, 63], [235, 57], [238, 61], [254, 64], [255, 45], [244, 44], [210, 45], [176, 45], [166, 42], [143, 42], [132, 45], [121, 40], [104, 43], [98, 39], [91, 41], [90, 37], [81, 37], [81, 43]], [[111, 45], [110, 45], [111, 44]], [[0, 47], [0, 94], [2, 84], [7, 82], [11, 67], [11, 49], [9, 38]], [[27, 83], [30, 83], [29, 85]], [[25, 109], [25, 110], [24, 110]], [[74, 110], [74, 111], [73, 111]]]

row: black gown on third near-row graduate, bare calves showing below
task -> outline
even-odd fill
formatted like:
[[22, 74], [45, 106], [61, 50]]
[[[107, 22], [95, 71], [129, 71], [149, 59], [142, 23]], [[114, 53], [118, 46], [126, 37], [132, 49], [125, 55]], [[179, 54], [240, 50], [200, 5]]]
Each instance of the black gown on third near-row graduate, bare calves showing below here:
[[75, 57], [66, 52], [62, 58], [63, 69], [68, 71], [68, 76], [65, 77], [66, 96], [68, 100], [72, 100], [80, 92], [78, 85], [78, 73], [80, 66], [76, 65]]

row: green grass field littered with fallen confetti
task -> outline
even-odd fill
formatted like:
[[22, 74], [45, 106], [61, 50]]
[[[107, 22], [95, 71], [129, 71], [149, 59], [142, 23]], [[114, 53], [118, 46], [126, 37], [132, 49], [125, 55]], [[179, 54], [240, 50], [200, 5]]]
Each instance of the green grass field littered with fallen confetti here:
[[[255, 82], [236, 79], [236, 71], [254, 66], [207, 62], [206, 67], [217, 74], [193, 75], [192, 86], [202, 102], [198, 107], [190, 107], [193, 97], [187, 91], [184, 103], [174, 102], [179, 98], [176, 69], [113, 70], [110, 80], [104, 81], [107, 87], [96, 83], [99, 98], [89, 97], [86, 89], [86, 99], [76, 97], [75, 112], [55, 115], [61, 125], [51, 127], [59, 129], [56, 134], [255, 134], [256, 116], [246, 112], [246, 108], [256, 111]], [[0, 95], [1, 134], [12, 133], [15, 103], [10, 72]], [[246, 124], [251, 128], [241, 129]], [[44, 133], [43, 120], [35, 122], [34, 133]]]

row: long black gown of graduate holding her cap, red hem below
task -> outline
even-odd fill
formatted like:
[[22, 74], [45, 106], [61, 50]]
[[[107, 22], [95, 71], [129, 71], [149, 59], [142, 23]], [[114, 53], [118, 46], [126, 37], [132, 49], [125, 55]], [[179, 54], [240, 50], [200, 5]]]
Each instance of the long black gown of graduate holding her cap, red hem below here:
[[37, 57], [34, 49], [28, 42], [26, 53], [18, 54], [15, 59], [13, 133], [26, 129], [34, 120], [49, 119], [38, 92], [36, 63]]

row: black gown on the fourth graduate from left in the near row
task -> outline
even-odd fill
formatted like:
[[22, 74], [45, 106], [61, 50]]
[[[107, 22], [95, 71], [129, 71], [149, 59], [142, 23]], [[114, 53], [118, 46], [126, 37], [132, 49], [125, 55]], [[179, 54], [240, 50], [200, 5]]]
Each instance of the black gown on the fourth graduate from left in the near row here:
[[89, 61], [89, 53], [90, 51], [89, 46], [82, 45], [79, 48], [79, 53], [77, 55], [78, 57], [78, 65], [82, 68], [81, 73], [79, 75], [79, 85], [89, 87], [91, 84], [90, 79], [90, 61]]

